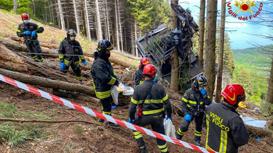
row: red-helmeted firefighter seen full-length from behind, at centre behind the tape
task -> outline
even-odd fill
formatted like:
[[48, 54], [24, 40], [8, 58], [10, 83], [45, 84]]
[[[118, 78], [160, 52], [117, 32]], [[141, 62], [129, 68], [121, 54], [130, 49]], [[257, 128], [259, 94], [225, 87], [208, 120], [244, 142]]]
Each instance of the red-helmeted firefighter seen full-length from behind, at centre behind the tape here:
[[[155, 132], [164, 134], [164, 118], [165, 111], [167, 112], [167, 120], [173, 120], [171, 117], [172, 108], [171, 102], [168, 99], [163, 86], [155, 83], [154, 77], [156, 76], [156, 67], [152, 64], [146, 64], [143, 70], [145, 80], [143, 84], [136, 86], [134, 95], [131, 98], [129, 106], [129, 123], [134, 123], [141, 127], [151, 125]], [[135, 117], [136, 108], [138, 110]], [[145, 142], [141, 132], [134, 131], [134, 138], [137, 140], [137, 146], [141, 153], [146, 152]], [[166, 141], [156, 139], [161, 152], [168, 152]]]

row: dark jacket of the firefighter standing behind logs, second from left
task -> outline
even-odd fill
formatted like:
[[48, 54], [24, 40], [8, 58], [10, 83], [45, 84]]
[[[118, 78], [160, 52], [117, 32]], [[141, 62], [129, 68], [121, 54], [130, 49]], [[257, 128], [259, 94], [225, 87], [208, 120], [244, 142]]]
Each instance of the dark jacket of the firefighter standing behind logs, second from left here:
[[[80, 60], [85, 62], [85, 57], [83, 56], [82, 47], [80, 42], [74, 40], [72, 44], [68, 41], [68, 38], [65, 38], [60, 42], [60, 47], [58, 50], [60, 62], [65, 62], [66, 65], [70, 65], [71, 62], [75, 64], [80, 64]], [[70, 56], [70, 55], [79, 55], [79, 56]]]

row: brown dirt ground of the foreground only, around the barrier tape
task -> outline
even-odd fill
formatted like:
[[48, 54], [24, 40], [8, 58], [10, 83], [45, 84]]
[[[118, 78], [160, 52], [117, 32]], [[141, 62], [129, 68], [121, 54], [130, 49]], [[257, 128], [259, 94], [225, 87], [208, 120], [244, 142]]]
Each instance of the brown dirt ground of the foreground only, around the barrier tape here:
[[[51, 89], [36, 86], [44, 91], [52, 92]], [[95, 98], [85, 96], [84, 98], [66, 98], [82, 106], [100, 111], [100, 103]], [[28, 140], [24, 145], [11, 149], [2, 139], [0, 152], [139, 152], [132, 131], [124, 127], [111, 127], [103, 125], [90, 115], [75, 111], [66, 106], [49, 101], [40, 96], [23, 91], [14, 86], [1, 82], [0, 102], [9, 103], [21, 112], [36, 112], [44, 115], [48, 120], [86, 120], [95, 124], [87, 123], [46, 123], [43, 124], [41, 132], [47, 135], [43, 140]], [[129, 102], [128, 102], [129, 105]], [[112, 111], [112, 115], [122, 120], [128, 120], [128, 105], [119, 106]], [[16, 115], [14, 116], [16, 118]], [[54, 118], [54, 119], [51, 119]], [[18, 118], [23, 119], [23, 118]], [[173, 115], [173, 124], [176, 129], [181, 124], [182, 118]], [[2, 122], [0, 125], [9, 125], [11, 122]], [[22, 127], [29, 123], [19, 123]], [[38, 123], [37, 123], [38, 124]], [[36, 126], [33, 124], [32, 126]], [[150, 127], [148, 127], [151, 129]], [[193, 143], [194, 122], [191, 123], [183, 141]], [[201, 145], [205, 146], [206, 130], [203, 128]], [[272, 140], [268, 137], [250, 137], [249, 144], [240, 147], [239, 152], [272, 152]], [[144, 135], [148, 152], [160, 152], [154, 137]], [[167, 143], [170, 152], [195, 152], [181, 146]]]

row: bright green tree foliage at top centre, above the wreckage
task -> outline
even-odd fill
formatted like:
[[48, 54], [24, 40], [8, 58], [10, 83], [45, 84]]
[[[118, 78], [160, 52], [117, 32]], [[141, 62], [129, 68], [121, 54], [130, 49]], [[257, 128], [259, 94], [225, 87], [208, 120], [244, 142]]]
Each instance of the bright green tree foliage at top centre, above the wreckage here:
[[134, 16], [142, 33], [162, 23], [170, 23], [171, 8], [166, 0], [127, 0], [129, 11]]

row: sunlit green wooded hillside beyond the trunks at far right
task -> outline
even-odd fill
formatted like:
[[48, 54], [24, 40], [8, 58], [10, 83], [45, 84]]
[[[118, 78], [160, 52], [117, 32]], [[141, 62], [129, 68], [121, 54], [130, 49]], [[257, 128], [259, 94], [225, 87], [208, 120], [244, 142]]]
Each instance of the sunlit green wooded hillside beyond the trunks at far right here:
[[236, 69], [233, 82], [245, 88], [250, 101], [260, 105], [266, 99], [272, 58], [262, 54], [260, 47], [234, 50]]

